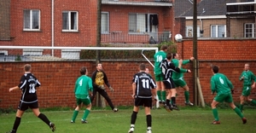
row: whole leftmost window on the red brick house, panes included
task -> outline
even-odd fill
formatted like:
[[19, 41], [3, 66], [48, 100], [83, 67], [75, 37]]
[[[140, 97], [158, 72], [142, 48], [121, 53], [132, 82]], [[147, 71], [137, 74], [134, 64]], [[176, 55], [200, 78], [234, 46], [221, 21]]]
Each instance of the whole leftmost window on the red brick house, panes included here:
[[38, 9], [26, 9], [23, 11], [24, 31], [39, 31], [40, 29], [40, 11]]

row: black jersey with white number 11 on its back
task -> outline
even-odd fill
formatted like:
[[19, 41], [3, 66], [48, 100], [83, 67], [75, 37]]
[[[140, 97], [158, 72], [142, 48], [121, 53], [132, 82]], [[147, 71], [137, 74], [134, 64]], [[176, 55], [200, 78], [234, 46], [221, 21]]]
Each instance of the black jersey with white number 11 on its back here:
[[133, 76], [132, 83], [136, 84], [135, 95], [139, 98], [151, 98], [151, 89], [156, 88], [154, 79], [146, 72], [138, 72]]

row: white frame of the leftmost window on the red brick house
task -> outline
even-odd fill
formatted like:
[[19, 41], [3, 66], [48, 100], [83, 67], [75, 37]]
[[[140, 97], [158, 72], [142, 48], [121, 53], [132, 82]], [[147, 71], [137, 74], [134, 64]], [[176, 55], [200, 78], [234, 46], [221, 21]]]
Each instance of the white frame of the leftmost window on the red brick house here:
[[[29, 11], [29, 16], [26, 16], [26, 11]], [[34, 16], [38, 12], [38, 18]], [[29, 20], [27, 20], [29, 17]], [[38, 27], [33, 27], [34, 20], [38, 20]], [[27, 27], [28, 26], [28, 27]], [[39, 9], [24, 9], [23, 10], [23, 31], [39, 31], [40, 30], [40, 10]]]

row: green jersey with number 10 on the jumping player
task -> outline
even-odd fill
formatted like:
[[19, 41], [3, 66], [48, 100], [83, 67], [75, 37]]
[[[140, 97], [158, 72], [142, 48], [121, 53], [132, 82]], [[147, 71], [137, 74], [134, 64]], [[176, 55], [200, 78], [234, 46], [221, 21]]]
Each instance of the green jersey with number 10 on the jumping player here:
[[160, 68], [160, 62], [164, 59], [166, 59], [165, 51], [160, 50], [154, 54], [154, 74], [161, 74], [162, 69]]

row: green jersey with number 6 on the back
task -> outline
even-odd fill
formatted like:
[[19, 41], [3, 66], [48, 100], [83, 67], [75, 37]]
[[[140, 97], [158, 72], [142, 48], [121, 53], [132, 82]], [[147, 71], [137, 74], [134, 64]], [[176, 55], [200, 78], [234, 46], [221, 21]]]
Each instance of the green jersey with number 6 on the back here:
[[222, 73], [215, 73], [211, 78], [211, 90], [212, 93], [217, 94], [229, 94], [233, 89], [233, 84], [230, 80]]

